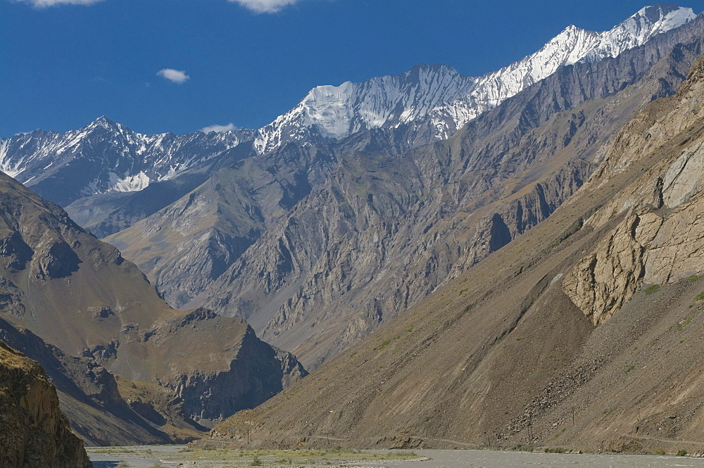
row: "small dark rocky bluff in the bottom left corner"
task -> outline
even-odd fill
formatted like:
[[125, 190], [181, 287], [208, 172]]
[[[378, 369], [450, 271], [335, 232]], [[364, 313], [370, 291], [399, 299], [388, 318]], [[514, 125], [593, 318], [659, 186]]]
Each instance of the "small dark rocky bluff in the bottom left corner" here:
[[92, 466], [37, 362], [0, 342], [0, 467]]

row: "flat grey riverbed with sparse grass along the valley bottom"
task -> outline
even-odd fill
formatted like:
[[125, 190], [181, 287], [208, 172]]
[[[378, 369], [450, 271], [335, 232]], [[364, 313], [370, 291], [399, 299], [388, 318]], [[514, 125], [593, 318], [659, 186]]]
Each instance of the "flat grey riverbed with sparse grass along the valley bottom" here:
[[[672, 455], [608, 455], [572, 453], [527, 453], [499, 450], [370, 450], [373, 456], [360, 456], [334, 450], [291, 450], [242, 452], [234, 450], [190, 450], [186, 445], [153, 445], [143, 447], [88, 448], [94, 468], [156, 468], [189, 466], [195, 468], [220, 467], [286, 467], [295, 465], [315, 467], [387, 467], [387, 468], [670, 468], [703, 467], [704, 458], [674, 457]], [[322, 452], [325, 452], [322, 454]], [[255, 459], [253, 455], [257, 455]], [[308, 456], [307, 454], [311, 454]], [[389, 459], [389, 456], [393, 457]], [[399, 460], [405, 458], [406, 460]], [[279, 460], [277, 460], [279, 459]], [[291, 462], [291, 459], [294, 461]], [[305, 460], [303, 460], [305, 459]], [[255, 462], [255, 460], [257, 460]]]

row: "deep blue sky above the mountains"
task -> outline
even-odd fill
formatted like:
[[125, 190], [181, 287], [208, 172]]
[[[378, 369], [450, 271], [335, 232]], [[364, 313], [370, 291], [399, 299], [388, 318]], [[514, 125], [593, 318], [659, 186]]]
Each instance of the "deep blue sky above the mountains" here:
[[[89, 4], [32, 4], [56, 1]], [[482, 75], [536, 51], [567, 25], [607, 30], [645, 5], [0, 0], [0, 137], [63, 132], [100, 115], [142, 133], [230, 122], [261, 127], [318, 84], [363, 81], [416, 63]], [[700, 13], [704, 0], [681, 6]]]

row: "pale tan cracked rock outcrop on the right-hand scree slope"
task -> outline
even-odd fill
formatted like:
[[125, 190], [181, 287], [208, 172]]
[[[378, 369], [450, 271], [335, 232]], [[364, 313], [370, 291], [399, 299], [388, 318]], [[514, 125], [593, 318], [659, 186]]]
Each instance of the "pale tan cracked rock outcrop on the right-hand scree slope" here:
[[[654, 163], [589, 220], [594, 229], [618, 224], [565, 278], [565, 291], [594, 324], [608, 320], [642, 284], [678, 282], [702, 270], [702, 76], [697, 63], [677, 96], [654, 103], [624, 128], [590, 181], [604, 186], [634, 163]], [[656, 160], [662, 153], [669, 157]]]

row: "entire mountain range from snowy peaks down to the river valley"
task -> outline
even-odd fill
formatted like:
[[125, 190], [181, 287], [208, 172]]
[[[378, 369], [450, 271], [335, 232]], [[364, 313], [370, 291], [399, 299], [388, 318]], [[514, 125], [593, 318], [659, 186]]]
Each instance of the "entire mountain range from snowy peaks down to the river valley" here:
[[[189, 440], [290, 388], [213, 436], [653, 448], [667, 410], [639, 419], [647, 437], [609, 422], [617, 439], [586, 421], [628, 408], [584, 401], [632, 384], [614, 374], [628, 346], [696, 361], [672, 337], [695, 339], [703, 37], [702, 15], [655, 5], [483, 77], [317, 87], [261, 129], [101, 117], [0, 139], [0, 340], [44, 365], [90, 444]], [[674, 304], [657, 324], [648, 284]], [[584, 425], [557, 433], [567, 405]], [[678, 424], [667, 437], [698, 437]]]

